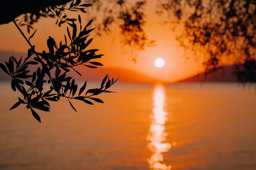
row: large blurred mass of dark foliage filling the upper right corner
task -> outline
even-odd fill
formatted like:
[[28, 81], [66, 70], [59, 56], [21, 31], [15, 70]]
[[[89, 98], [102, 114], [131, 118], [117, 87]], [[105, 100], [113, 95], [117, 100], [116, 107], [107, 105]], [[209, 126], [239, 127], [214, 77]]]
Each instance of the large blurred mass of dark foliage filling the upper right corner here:
[[237, 63], [234, 73], [239, 81], [256, 82], [255, 0], [161, 0], [157, 12], [167, 12], [183, 24], [177, 40], [185, 49], [206, 56], [208, 73], [227, 57]]

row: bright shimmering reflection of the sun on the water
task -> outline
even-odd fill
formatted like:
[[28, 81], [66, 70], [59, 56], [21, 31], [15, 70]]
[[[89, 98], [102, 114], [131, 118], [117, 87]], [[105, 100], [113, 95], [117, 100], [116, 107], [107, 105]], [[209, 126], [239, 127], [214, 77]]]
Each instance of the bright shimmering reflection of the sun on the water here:
[[172, 167], [163, 163], [163, 152], [169, 151], [171, 144], [166, 141], [168, 134], [165, 132], [165, 122], [167, 114], [165, 107], [165, 89], [163, 86], [157, 86], [154, 90], [154, 108], [151, 115], [152, 123], [147, 135], [147, 141], [150, 142], [147, 148], [152, 152], [150, 159], [147, 159], [149, 168], [152, 170], [170, 170]]

